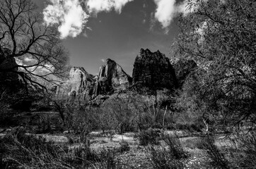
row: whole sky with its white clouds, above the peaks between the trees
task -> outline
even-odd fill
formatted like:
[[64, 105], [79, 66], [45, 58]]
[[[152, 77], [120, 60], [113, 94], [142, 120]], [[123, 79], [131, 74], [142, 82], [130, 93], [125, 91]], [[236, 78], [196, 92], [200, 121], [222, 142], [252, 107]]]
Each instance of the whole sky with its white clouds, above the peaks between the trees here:
[[33, 0], [47, 25], [58, 23], [70, 63], [96, 75], [111, 58], [132, 75], [141, 48], [170, 57], [182, 0]]

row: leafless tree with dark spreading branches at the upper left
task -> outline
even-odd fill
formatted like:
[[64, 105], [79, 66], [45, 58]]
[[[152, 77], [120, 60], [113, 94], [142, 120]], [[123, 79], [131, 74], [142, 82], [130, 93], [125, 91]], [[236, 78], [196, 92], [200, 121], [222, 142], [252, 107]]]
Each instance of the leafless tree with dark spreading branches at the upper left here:
[[[63, 77], [67, 52], [57, 27], [43, 23], [31, 0], [0, 1], [0, 73], [15, 73], [25, 83], [47, 89], [50, 77]], [[16, 60], [18, 64], [4, 66]]]

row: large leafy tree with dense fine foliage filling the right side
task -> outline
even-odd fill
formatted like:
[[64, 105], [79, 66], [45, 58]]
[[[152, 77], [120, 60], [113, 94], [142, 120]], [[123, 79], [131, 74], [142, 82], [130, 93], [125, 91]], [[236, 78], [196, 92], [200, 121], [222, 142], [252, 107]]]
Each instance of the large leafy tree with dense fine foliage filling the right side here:
[[175, 57], [193, 59], [205, 72], [200, 87], [183, 90], [205, 111], [223, 112], [227, 123], [255, 123], [256, 2], [197, 0], [187, 8], [192, 12], [179, 19]]

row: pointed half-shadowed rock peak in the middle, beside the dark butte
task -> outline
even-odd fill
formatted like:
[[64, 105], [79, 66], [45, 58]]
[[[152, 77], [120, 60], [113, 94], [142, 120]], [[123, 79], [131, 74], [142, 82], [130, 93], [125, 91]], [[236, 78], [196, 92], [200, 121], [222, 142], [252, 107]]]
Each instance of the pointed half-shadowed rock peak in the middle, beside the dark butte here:
[[132, 78], [122, 70], [121, 66], [108, 58], [106, 65], [100, 67], [94, 94], [98, 96], [99, 94], [111, 94], [127, 90], [131, 83]]

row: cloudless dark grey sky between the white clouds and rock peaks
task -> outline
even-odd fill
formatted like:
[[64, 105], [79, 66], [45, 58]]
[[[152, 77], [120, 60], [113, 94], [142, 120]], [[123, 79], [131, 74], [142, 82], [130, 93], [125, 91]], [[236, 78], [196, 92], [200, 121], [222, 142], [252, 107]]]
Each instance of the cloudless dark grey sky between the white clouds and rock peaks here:
[[[52, 4], [47, 0], [34, 1], [40, 12]], [[163, 27], [161, 20], [154, 17], [156, 1], [161, 0], [130, 0], [123, 6], [121, 13], [112, 9], [91, 14], [80, 35], [62, 39], [69, 51], [71, 65], [82, 66], [88, 73], [95, 75], [100, 65], [105, 64], [103, 61], [111, 58], [132, 75], [135, 57], [141, 48], [151, 51], [159, 49], [169, 57], [170, 46], [178, 34], [177, 19], [173, 18], [167, 27]]]

